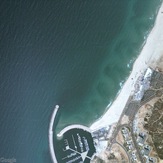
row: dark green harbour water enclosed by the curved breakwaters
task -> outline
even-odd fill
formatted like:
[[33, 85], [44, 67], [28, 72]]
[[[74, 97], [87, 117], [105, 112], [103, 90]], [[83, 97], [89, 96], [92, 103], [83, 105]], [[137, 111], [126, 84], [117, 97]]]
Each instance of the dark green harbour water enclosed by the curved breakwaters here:
[[[80, 140], [83, 143], [82, 147], [79, 144], [80, 140], [78, 139], [79, 138], [78, 136], [80, 137]], [[86, 145], [84, 142], [84, 138], [87, 141], [88, 148], [89, 148], [87, 156], [92, 158], [92, 156], [96, 152], [96, 149], [94, 147], [93, 138], [89, 132], [84, 131], [82, 129], [71, 129], [67, 131], [66, 133], [64, 133], [62, 139], [60, 140], [56, 140], [56, 137], [54, 136], [54, 140], [56, 142], [54, 144], [54, 149], [55, 149], [57, 161], [61, 163], [65, 163], [65, 162], [73, 160], [75, 157], [78, 157], [78, 156], [80, 157], [80, 153], [86, 152], [87, 149], [86, 149]], [[70, 149], [66, 150], [66, 146], [68, 146]], [[79, 153], [76, 153], [74, 157], [66, 158], [71, 153], [74, 153], [72, 149], [78, 151]], [[80, 159], [78, 159], [77, 161], [74, 161], [74, 163], [79, 163], [79, 162], [89, 163], [90, 159], [84, 159], [83, 161], [82, 158], [80, 157]]]

